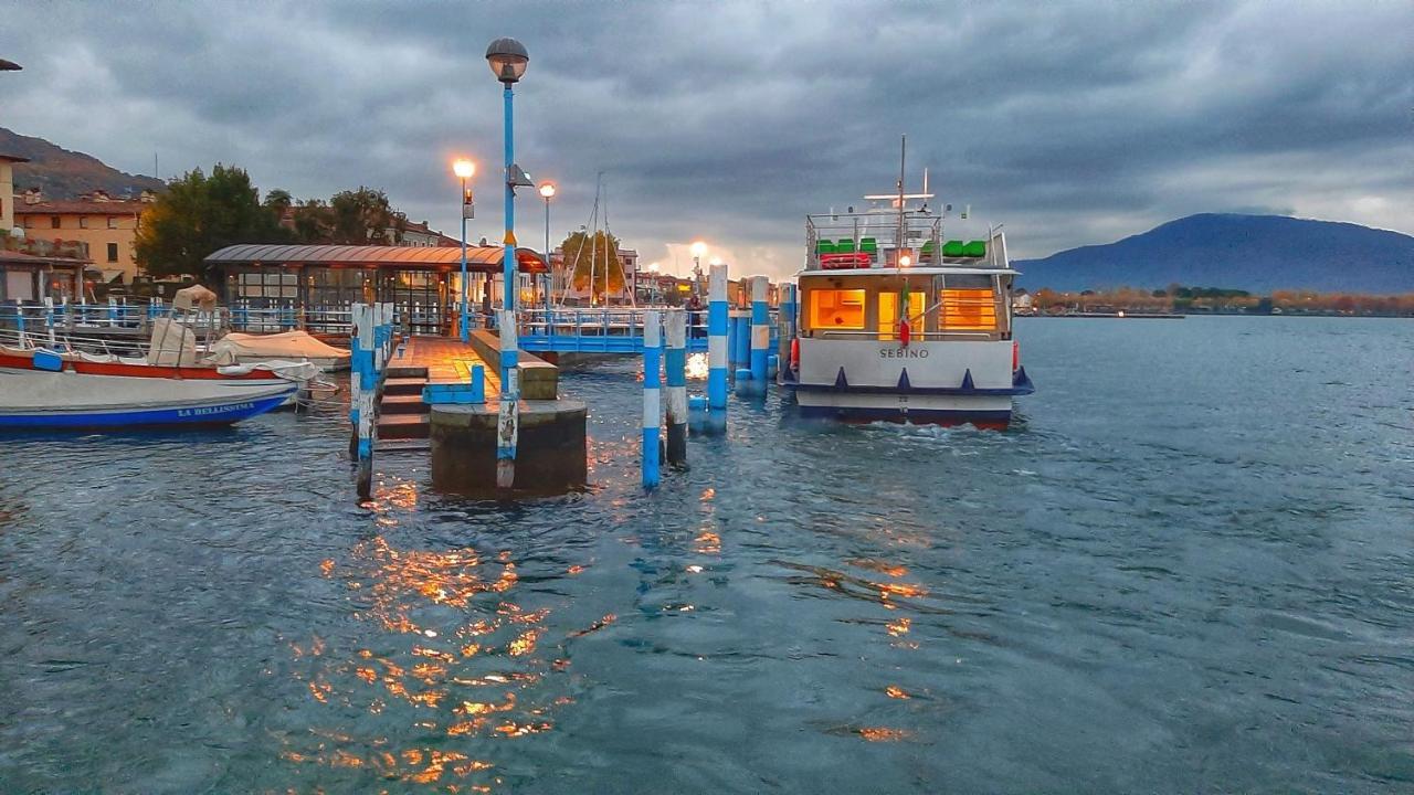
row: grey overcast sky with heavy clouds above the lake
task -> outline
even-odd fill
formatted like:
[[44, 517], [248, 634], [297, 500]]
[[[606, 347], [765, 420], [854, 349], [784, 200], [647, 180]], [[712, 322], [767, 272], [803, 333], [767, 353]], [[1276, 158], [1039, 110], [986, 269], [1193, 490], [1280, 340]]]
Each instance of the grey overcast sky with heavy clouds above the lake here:
[[[686, 270], [785, 274], [803, 216], [930, 168], [1012, 256], [1192, 212], [1414, 232], [1414, 3], [6, 3], [0, 126], [160, 177], [222, 161], [262, 190], [383, 188], [455, 236], [501, 228], [501, 86], [516, 160], [560, 185], [559, 240], [604, 171], [612, 231]], [[522, 245], [544, 208], [523, 191]]]

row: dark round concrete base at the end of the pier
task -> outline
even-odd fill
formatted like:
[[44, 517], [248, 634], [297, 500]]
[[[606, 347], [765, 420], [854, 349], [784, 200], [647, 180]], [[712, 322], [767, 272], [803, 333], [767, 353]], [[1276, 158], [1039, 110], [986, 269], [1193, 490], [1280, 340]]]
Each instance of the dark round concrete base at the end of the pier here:
[[[471, 497], [495, 497], [496, 423], [501, 405], [433, 406], [433, 487]], [[580, 400], [520, 400], [515, 491], [564, 494], [588, 480], [585, 420]]]

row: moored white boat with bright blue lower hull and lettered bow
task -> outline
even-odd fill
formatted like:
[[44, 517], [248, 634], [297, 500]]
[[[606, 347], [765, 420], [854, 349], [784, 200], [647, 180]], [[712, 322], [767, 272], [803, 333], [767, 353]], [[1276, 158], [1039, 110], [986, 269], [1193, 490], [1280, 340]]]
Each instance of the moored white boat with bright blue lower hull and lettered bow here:
[[[38, 352], [37, 366], [62, 366]], [[229, 379], [92, 375], [0, 368], [0, 430], [123, 430], [221, 426], [263, 414], [300, 388]]]

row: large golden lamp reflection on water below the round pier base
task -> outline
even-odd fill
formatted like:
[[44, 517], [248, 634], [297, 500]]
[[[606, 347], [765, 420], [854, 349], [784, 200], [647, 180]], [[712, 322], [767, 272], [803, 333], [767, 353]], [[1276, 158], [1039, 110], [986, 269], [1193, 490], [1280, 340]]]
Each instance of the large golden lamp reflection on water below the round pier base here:
[[[389, 519], [416, 505], [416, 488], [403, 485], [380, 489], [370, 504]], [[358, 634], [362, 648], [341, 651], [322, 637], [290, 644], [294, 678], [341, 730], [281, 736], [287, 762], [402, 782], [373, 787], [369, 779], [368, 791], [491, 791], [501, 784], [488, 772], [493, 760], [471, 758], [457, 743], [553, 731], [554, 710], [574, 703], [563, 693], [570, 668], [563, 641], [546, 648], [551, 610], [512, 600], [519, 574], [508, 550], [402, 547], [376, 535], [342, 560], [320, 562], [318, 571], [346, 590], [354, 618], [368, 631]], [[614, 620], [605, 615], [567, 637]], [[547, 676], [560, 683], [547, 683]], [[354, 737], [363, 726], [359, 714], [370, 721], [378, 716], [369, 726], [385, 734], [392, 727], [392, 737]], [[448, 747], [427, 734], [445, 737]], [[403, 743], [410, 747], [399, 747]]]

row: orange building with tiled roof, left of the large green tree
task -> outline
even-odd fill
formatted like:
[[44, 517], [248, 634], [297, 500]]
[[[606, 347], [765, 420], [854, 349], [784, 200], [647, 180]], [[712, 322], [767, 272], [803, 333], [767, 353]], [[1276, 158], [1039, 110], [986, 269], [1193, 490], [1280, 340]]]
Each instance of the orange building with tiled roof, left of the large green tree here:
[[[0, 192], [8, 197], [13, 190], [0, 185]], [[139, 272], [137, 228], [154, 201], [153, 191], [143, 191], [139, 198], [116, 198], [102, 190], [74, 201], [49, 201], [40, 188], [30, 188], [14, 199], [14, 222], [27, 239], [85, 243], [105, 282], [132, 284]]]

